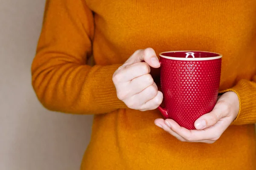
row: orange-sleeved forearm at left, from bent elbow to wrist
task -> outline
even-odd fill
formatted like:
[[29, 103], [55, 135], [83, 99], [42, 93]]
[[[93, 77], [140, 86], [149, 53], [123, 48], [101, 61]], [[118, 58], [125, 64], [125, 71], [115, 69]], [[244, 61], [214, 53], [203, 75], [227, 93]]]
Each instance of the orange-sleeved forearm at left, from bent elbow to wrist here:
[[125, 108], [125, 104], [117, 99], [112, 82], [113, 72], [118, 67], [73, 63], [47, 67], [45, 63], [34, 68], [32, 85], [40, 102], [49, 110], [78, 114], [108, 113]]

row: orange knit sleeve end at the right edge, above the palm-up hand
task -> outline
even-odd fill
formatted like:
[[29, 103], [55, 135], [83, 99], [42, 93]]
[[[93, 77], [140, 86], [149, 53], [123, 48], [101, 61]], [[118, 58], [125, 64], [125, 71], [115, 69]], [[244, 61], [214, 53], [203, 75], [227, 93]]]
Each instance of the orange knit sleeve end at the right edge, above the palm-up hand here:
[[232, 125], [256, 123], [256, 76], [252, 81], [241, 79], [233, 88], [221, 91], [234, 91], [239, 97], [240, 109]]

